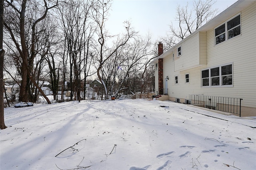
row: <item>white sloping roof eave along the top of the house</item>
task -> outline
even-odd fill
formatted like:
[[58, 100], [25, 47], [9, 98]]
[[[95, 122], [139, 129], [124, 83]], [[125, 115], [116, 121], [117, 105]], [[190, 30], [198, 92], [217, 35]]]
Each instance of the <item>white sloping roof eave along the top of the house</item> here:
[[238, 0], [237, 2], [235, 2], [234, 4], [232, 4], [230, 7], [228, 7], [226, 10], [224, 10], [223, 12], [221, 12], [220, 14], [218, 14], [216, 17], [214, 17], [212, 20], [208, 21], [206, 24], [204, 24], [202, 27], [198, 28], [196, 31], [194, 31], [193, 33], [191, 33], [190, 35], [188, 35], [188, 37], [186, 37], [185, 39], [182, 39], [182, 41], [180, 41], [179, 43], [177, 43], [176, 45], [174, 45], [172, 48], [168, 49], [166, 52], [164, 52], [162, 55], [158, 56], [156, 59], [154, 59], [150, 64], [155, 63], [158, 59], [162, 59], [164, 57], [166, 57], [167, 55], [171, 54], [174, 50], [174, 48], [176, 48], [177, 46], [179, 46], [180, 44], [182, 44], [184, 41], [186, 41], [187, 39], [190, 39], [191, 37], [193, 37], [194, 35], [196, 35], [196, 33], [198, 33], [199, 31], [208, 31], [209, 29], [213, 29], [214, 27], [220, 25], [220, 23], [223, 23], [224, 21], [228, 20], [229, 18], [231, 18], [232, 16], [238, 14], [239, 12], [241, 12], [244, 8], [247, 8], [248, 6], [250, 6], [251, 4], [253, 4], [254, 2], [256, 2], [256, 0]]

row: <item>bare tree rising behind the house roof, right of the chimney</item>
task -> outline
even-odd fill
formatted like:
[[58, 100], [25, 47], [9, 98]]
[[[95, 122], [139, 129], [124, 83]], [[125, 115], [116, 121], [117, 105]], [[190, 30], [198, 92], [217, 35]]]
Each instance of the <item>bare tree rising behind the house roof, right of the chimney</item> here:
[[176, 8], [178, 26], [175, 27], [176, 24], [171, 22], [170, 32], [162, 38], [168, 49], [214, 18], [218, 12], [217, 9], [212, 9], [215, 2], [216, 0], [194, 0], [192, 9], [188, 4], [186, 6], [178, 5]]

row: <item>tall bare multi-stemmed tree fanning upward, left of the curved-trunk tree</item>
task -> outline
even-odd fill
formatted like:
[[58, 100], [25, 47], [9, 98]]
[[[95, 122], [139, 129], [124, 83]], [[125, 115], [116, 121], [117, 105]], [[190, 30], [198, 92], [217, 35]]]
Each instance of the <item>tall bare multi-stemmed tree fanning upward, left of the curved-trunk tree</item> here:
[[[86, 2], [72, 0], [64, 2], [59, 8], [61, 27], [65, 36], [70, 64], [71, 100], [74, 96], [75, 100], [80, 101], [81, 72], [82, 68], [86, 68], [82, 64], [87, 64], [86, 57], [90, 53], [89, 44], [92, 38], [92, 29], [94, 29], [88, 17], [92, 5], [93, 1], [91, 0]], [[85, 62], [83, 62], [84, 59]]]

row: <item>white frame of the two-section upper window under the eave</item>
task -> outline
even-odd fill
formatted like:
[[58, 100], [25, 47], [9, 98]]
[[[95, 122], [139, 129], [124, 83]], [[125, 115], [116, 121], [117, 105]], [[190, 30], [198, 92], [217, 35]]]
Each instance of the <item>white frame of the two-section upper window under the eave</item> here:
[[[240, 15], [240, 24], [238, 24], [238, 25], [236, 25], [235, 27], [232, 27], [231, 29], [228, 30], [228, 22], [231, 21], [231, 20], [233, 20], [234, 18], [236, 18], [236, 17], [239, 16], [239, 15]], [[224, 31], [224, 33], [221, 33], [221, 34], [219, 34], [219, 35], [215, 35], [215, 29], [217, 29], [218, 27], [222, 26], [223, 24], [225, 24], [225, 31]], [[234, 38], [234, 37], [228, 38], [228, 31], [230, 31], [230, 30], [232, 30], [232, 29], [234, 29], [234, 28], [236, 28], [236, 27], [239, 27], [239, 26], [240, 26], [240, 34], [239, 34], [239, 35], [236, 35], [235, 37], [241, 36], [241, 34], [242, 34], [242, 31], [241, 31], [241, 13], [236, 14], [235, 16], [233, 16], [232, 18], [230, 18], [229, 20], [227, 20], [227, 21], [221, 23], [220, 25], [218, 25], [217, 27], [215, 27], [215, 28], [214, 28], [214, 45], [221, 44], [221, 43], [223, 43], [223, 42], [225, 42], [225, 41], [228, 41], [229, 39]], [[222, 34], [225, 34], [225, 40], [222, 41], [222, 42], [220, 42], [220, 43], [218, 43], [218, 44], [216, 44], [216, 37], [219, 37], [219, 36], [222, 35]]]

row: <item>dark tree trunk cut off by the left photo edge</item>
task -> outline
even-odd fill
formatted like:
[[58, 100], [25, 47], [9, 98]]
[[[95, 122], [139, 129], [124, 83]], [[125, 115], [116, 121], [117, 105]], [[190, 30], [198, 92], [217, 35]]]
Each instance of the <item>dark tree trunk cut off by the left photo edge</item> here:
[[4, 124], [4, 49], [3, 49], [3, 15], [4, 15], [4, 1], [0, 0], [0, 129], [5, 129]]

